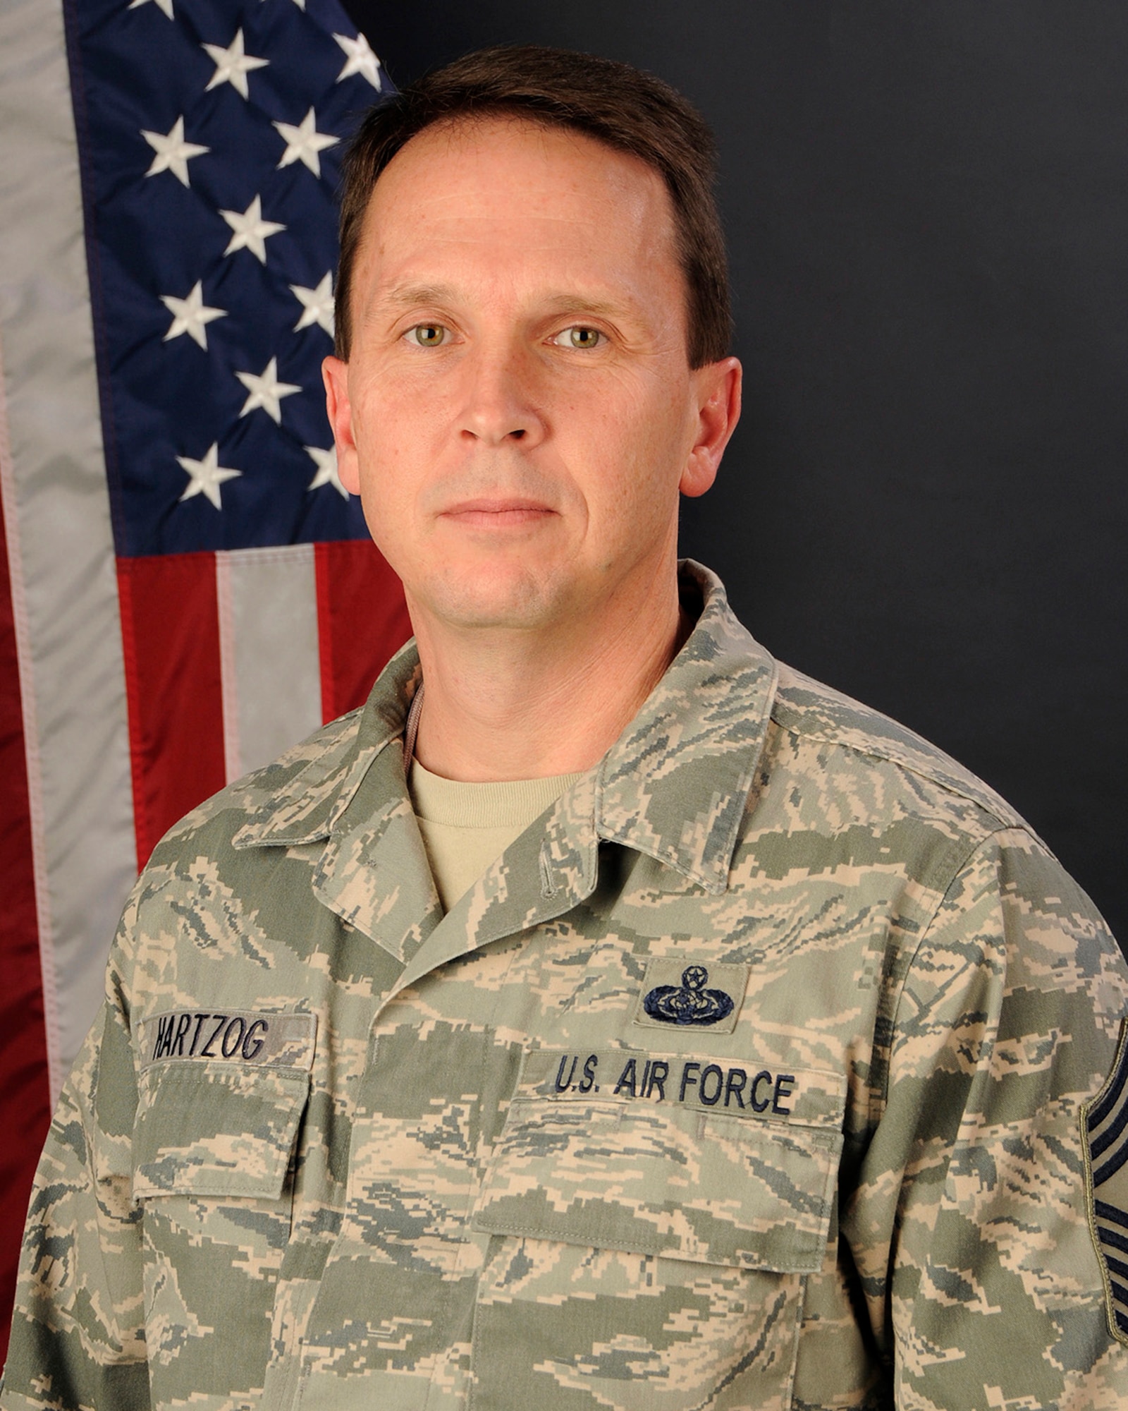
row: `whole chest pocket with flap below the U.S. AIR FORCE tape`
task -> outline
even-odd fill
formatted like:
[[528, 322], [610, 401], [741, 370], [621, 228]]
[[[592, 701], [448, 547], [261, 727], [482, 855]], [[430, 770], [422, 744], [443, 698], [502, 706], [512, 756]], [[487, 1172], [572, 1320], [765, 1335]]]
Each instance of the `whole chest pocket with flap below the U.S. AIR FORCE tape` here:
[[805, 1120], [519, 1084], [474, 1216], [477, 1411], [788, 1404], [845, 1102], [805, 1077]]

